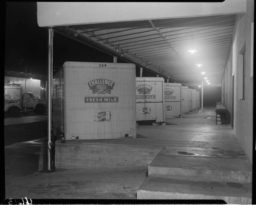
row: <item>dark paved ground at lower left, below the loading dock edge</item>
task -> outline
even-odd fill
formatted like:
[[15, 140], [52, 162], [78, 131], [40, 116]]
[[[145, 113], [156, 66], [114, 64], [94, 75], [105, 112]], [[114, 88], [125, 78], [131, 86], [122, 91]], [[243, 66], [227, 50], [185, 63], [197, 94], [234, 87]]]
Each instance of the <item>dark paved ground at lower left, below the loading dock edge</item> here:
[[5, 118], [6, 203], [22, 203], [25, 197], [33, 203], [48, 199], [136, 199], [147, 167], [38, 171], [41, 147], [47, 144], [46, 120], [46, 115], [33, 114]]

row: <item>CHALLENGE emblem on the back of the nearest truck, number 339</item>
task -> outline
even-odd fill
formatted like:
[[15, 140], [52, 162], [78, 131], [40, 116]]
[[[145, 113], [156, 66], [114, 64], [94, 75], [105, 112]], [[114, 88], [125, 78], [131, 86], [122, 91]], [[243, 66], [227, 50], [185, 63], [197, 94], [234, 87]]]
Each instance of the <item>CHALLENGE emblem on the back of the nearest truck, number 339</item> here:
[[88, 85], [93, 94], [111, 94], [111, 90], [113, 90], [115, 82], [108, 79], [95, 79], [89, 81]]

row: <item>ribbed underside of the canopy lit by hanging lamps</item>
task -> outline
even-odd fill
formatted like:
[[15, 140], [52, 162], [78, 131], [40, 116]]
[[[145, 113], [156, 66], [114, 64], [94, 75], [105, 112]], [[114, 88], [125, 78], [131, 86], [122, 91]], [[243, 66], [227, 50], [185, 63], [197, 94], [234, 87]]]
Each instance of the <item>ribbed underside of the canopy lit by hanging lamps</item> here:
[[[169, 82], [200, 85], [206, 72], [212, 85], [220, 85], [236, 15], [171, 18], [113, 23], [69, 25], [54, 30], [71, 38], [77, 35], [120, 53], [159, 72]], [[67, 30], [65, 30], [67, 31]], [[86, 43], [86, 42], [84, 42]], [[191, 54], [189, 49], [197, 49]], [[196, 64], [202, 64], [201, 67]]]

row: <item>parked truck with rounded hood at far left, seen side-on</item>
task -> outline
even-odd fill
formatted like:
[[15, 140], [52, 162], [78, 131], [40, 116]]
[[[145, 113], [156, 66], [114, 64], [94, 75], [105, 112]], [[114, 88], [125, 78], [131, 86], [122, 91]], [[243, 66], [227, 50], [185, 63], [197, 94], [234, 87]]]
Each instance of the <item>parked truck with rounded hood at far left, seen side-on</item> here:
[[[26, 99], [26, 103], [25, 103]], [[11, 116], [17, 116], [19, 111], [34, 110], [37, 114], [46, 112], [47, 101], [43, 98], [36, 98], [32, 92], [23, 92], [20, 84], [5, 83], [5, 112]]]

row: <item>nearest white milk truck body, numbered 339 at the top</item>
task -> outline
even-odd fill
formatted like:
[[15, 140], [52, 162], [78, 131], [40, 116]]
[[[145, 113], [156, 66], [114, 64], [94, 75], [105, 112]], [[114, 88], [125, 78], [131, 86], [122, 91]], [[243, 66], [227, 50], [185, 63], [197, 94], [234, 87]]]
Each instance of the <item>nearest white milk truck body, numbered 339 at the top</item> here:
[[135, 65], [65, 62], [54, 76], [53, 128], [65, 140], [136, 138]]

